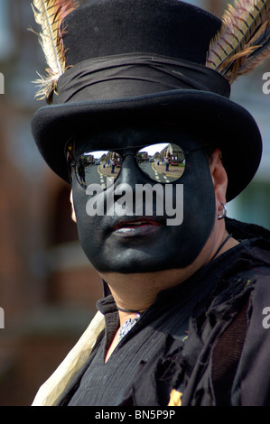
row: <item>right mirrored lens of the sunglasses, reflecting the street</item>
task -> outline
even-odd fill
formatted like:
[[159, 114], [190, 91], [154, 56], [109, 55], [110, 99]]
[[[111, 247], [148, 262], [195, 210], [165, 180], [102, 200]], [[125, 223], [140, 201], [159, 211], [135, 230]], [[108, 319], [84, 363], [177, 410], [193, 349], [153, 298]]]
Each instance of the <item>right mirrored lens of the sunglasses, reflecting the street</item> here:
[[137, 163], [152, 180], [172, 183], [182, 177], [185, 154], [176, 144], [152, 144], [137, 152]]

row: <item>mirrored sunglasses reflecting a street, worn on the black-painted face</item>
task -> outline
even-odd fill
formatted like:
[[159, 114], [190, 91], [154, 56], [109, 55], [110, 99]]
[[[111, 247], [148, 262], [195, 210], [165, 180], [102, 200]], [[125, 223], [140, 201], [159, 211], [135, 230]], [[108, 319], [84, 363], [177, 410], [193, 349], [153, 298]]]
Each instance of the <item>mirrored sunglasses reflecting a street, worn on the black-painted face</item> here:
[[[185, 171], [186, 157], [203, 147], [185, 152], [175, 143], [155, 143], [144, 146], [117, 148], [84, 152], [73, 161], [70, 144], [67, 159], [79, 185], [87, 189], [88, 185], [98, 183], [105, 189], [104, 178], [116, 178], [121, 172], [126, 156], [133, 156], [136, 165], [144, 175], [155, 183], [169, 184], [180, 180]], [[74, 174], [73, 174], [74, 175]]]

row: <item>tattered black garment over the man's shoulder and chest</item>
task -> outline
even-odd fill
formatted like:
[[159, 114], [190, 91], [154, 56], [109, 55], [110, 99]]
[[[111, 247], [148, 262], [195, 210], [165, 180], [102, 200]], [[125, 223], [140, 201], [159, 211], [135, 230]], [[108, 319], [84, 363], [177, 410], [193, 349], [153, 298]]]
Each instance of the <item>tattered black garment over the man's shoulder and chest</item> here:
[[114, 373], [102, 366], [102, 334], [59, 405], [166, 406], [175, 389], [183, 406], [270, 406], [270, 232], [227, 228], [242, 243], [159, 294], [116, 347]]

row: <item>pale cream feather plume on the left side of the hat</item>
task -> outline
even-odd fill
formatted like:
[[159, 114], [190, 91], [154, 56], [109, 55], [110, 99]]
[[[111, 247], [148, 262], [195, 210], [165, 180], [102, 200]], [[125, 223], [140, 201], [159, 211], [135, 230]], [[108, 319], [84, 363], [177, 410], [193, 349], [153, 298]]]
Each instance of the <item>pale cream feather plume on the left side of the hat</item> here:
[[40, 87], [36, 97], [46, 98], [50, 103], [57, 81], [66, 70], [61, 23], [78, 3], [74, 0], [33, 0], [32, 7], [35, 22], [42, 26], [39, 38], [48, 65], [47, 76], [34, 81]]

